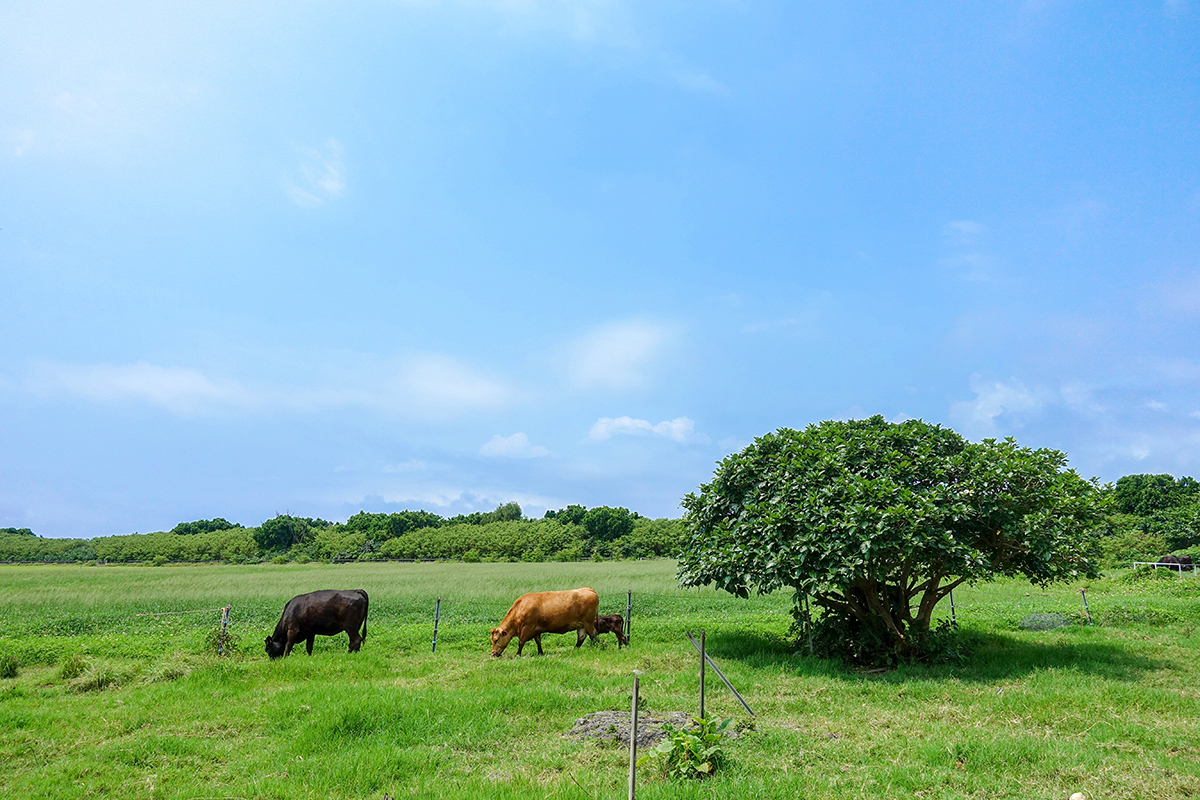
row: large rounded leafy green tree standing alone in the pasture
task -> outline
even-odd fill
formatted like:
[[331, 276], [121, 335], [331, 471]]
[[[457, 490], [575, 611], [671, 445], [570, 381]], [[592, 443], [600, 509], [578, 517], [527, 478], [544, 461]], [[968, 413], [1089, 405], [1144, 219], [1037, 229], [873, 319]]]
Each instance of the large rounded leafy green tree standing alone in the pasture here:
[[780, 428], [725, 458], [686, 495], [686, 587], [796, 590], [823, 630], [870, 661], [928, 652], [934, 609], [964, 582], [1094, 577], [1094, 481], [1056, 450], [973, 444], [882, 416]]

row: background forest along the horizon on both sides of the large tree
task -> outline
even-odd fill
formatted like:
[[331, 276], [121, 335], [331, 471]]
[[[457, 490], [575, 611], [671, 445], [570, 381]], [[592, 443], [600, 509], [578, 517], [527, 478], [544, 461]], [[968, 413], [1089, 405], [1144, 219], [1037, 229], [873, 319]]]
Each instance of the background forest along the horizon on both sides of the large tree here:
[[[1200, 481], [1126, 475], [1106, 491], [1110, 513], [1096, 531], [1102, 566], [1128, 566], [1166, 554], [1200, 560]], [[578, 561], [674, 557], [688, 535], [683, 519], [649, 519], [623, 507], [569, 505], [540, 519], [516, 503], [442, 517], [430, 511], [359, 512], [344, 523], [280, 515], [256, 528], [221, 517], [168, 531], [44, 539], [0, 528], [0, 563], [170, 561]]]

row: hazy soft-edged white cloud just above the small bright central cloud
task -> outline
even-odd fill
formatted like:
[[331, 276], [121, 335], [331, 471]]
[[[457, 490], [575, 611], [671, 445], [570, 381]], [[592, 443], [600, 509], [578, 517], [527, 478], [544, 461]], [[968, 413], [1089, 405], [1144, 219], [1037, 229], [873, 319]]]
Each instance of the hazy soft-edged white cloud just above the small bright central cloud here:
[[599, 327], [569, 351], [571, 375], [583, 389], [638, 389], [650, 383], [673, 338], [666, 325], [628, 320]]

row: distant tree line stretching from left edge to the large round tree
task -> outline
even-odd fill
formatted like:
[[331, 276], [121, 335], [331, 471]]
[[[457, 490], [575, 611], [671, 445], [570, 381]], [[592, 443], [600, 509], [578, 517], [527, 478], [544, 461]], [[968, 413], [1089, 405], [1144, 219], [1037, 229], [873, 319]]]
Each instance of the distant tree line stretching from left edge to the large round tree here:
[[0, 561], [166, 564], [169, 561], [576, 561], [674, 557], [678, 519], [648, 519], [628, 509], [569, 505], [526, 518], [516, 503], [442, 517], [430, 511], [359, 512], [344, 523], [278, 515], [257, 528], [221, 517], [169, 531], [43, 539], [0, 528]]

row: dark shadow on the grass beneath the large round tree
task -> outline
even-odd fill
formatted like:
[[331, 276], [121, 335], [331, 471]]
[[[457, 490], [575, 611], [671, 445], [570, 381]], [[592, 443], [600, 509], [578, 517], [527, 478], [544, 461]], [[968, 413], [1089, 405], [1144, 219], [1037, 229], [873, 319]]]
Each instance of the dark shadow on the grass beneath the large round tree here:
[[1110, 642], [1030, 642], [1003, 633], [965, 632], [974, 639], [971, 656], [950, 664], [905, 664], [887, 672], [864, 672], [840, 661], [809, 656], [781, 636], [755, 632], [714, 632], [704, 644], [708, 655], [755, 668], [787, 669], [800, 675], [842, 680], [959, 680], [995, 682], [1043, 670], [1073, 670], [1106, 680], [1135, 681], [1147, 672], [1168, 669], [1166, 660], [1147, 658]]

